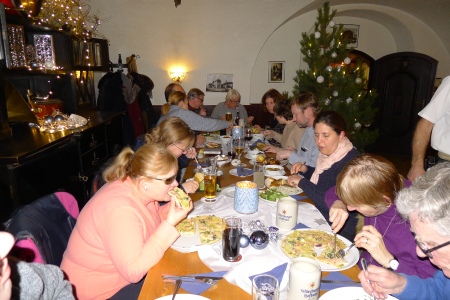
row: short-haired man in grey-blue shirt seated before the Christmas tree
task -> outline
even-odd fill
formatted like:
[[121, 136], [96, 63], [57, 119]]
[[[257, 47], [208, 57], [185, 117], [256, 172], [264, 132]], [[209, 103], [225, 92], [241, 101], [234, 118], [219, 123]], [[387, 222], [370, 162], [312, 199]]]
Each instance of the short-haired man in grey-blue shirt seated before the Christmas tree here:
[[313, 124], [316, 115], [320, 112], [320, 107], [315, 96], [310, 92], [305, 92], [292, 100], [291, 111], [295, 123], [306, 130], [300, 140], [297, 152], [288, 147], [277, 153], [277, 159], [288, 158], [292, 164], [291, 173], [296, 174], [303, 165], [316, 166], [319, 149], [316, 145]]

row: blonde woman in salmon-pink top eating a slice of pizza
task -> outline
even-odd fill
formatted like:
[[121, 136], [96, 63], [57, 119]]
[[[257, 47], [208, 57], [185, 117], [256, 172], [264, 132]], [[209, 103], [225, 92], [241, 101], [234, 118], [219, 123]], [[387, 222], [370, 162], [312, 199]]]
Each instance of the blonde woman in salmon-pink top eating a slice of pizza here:
[[177, 169], [167, 147], [148, 143], [123, 149], [104, 171], [108, 184], [82, 209], [61, 264], [78, 299], [137, 299], [192, 210], [192, 202], [183, 210], [168, 194], [178, 186]]

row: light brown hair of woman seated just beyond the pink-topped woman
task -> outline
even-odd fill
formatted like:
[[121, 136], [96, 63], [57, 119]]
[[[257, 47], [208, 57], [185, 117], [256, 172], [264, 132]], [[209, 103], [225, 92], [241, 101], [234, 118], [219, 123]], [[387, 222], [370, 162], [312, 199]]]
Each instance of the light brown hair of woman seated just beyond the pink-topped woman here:
[[178, 117], [170, 117], [162, 121], [145, 135], [146, 143], [157, 143], [164, 147], [171, 144], [187, 141], [189, 147], [195, 143], [195, 134], [189, 126]]

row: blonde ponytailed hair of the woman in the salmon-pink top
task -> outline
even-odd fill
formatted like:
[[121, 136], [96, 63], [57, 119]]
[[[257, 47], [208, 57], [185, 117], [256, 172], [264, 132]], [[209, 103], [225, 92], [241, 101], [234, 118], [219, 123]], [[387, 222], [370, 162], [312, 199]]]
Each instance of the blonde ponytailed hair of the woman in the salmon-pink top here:
[[127, 176], [136, 179], [139, 176], [156, 178], [178, 170], [175, 156], [163, 145], [148, 143], [134, 152], [130, 147], [124, 148], [105, 171], [106, 182], [125, 180]]

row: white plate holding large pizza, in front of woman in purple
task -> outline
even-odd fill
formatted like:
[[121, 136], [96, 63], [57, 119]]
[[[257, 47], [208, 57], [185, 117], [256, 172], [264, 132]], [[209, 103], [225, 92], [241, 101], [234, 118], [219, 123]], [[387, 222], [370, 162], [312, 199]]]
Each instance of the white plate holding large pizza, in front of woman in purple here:
[[[299, 241], [302, 241], [300, 244]], [[351, 245], [351, 242], [341, 235], [336, 239], [337, 251]], [[339, 272], [353, 267], [359, 259], [356, 247], [350, 249], [344, 258], [332, 257], [334, 251], [334, 235], [332, 232], [319, 229], [296, 229], [287, 233], [278, 241], [281, 252], [290, 259], [309, 257], [315, 259], [322, 271]]]

